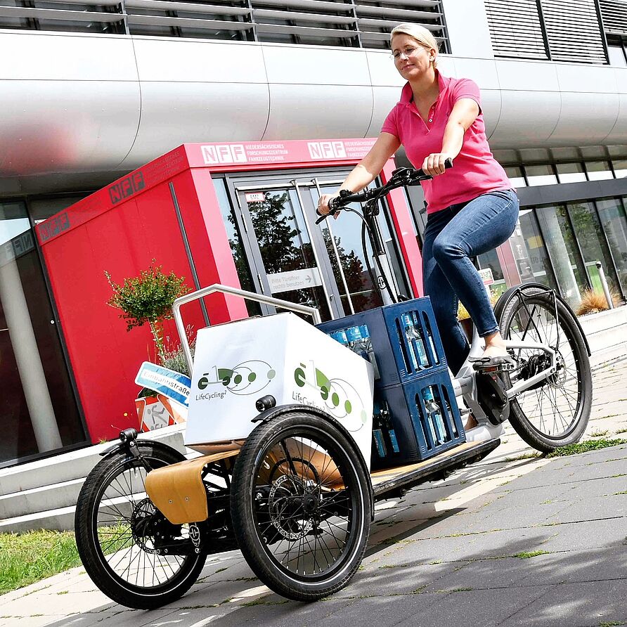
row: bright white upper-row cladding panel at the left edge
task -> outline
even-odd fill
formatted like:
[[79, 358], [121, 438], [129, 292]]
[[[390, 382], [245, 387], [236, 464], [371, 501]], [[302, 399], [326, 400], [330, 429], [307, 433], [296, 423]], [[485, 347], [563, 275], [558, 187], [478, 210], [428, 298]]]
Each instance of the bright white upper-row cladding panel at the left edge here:
[[133, 42], [124, 35], [2, 32], [0, 58], [0, 79], [137, 80]]

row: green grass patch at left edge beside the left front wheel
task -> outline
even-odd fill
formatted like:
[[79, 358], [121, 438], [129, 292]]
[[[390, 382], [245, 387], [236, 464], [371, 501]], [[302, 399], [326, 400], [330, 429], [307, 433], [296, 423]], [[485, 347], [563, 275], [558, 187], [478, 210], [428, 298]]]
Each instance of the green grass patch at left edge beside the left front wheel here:
[[80, 564], [73, 531], [0, 534], [0, 595]]

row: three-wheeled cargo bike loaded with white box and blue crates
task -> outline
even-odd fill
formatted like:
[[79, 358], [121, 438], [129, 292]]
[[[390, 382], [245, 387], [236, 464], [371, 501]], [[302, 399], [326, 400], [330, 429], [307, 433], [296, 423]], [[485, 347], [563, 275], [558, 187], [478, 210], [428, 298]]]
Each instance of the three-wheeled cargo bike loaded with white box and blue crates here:
[[[366, 202], [367, 225], [382, 194], [424, 177], [401, 169], [337, 205]], [[200, 329], [192, 360], [180, 308], [214, 292], [286, 313]], [[451, 378], [428, 298], [321, 323], [309, 306], [222, 285], [181, 297], [185, 441], [200, 455], [120, 433], [77, 501], [87, 573], [112, 600], [151, 609], [186, 593], [208, 555], [240, 549], [271, 590], [317, 600], [358, 569], [376, 501], [481, 460], [506, 420], [538, 451], [577, 441], [592, 379], [576, 316], [538, 283], [505, 292], [495, 313], [512, 363], [467, 361]], [[470, 356], [481, 350], [474, 332]], [[479, 426], [465, 432], [469, 413]]]

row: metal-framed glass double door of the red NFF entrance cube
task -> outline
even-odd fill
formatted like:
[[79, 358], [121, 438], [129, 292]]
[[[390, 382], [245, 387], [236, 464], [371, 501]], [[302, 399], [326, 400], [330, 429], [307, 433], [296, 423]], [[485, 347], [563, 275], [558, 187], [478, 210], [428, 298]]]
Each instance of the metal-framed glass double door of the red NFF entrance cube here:
[[[361, 240], [361, 219], [345, 211], [340, 219], [316, 225], [318, 198], [335, 192], [344, 179], [342, 174], [334, 179], [285, 176], [283, 182], [278, 177], [257, 179], [257, 183], [253, 179], [228, 182], [237, 199], [235, 219], [255, 289], [315, 306], [325, 321], [383, 304], [375, 285], [380, 272], [373, 261], [370, 240], [366, 237], [366, 250]], [[411, 295], [384, 210], [370, 226], [380, 240], [382, 264], [392, 290]], [[271, 311], [264, 306], [261, 310]]]

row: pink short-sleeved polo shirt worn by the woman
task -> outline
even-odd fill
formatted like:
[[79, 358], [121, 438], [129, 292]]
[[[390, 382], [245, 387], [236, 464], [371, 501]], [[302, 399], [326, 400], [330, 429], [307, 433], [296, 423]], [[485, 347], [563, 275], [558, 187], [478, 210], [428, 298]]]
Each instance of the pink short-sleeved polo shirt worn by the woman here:
[[399, 138], [407, 158], [419, 168], [427, 155], [441, 152], [444, 127], [453, 105], [460, 98], [472, 98], [479, 105], [479, 115], [465, 132], [462, 150], [455, 157], [453, 167], [434, 176], [431, 181], [421, 183], [429, 214], [481, 194], [514, 187], [490, 152], [479, 86], [470, 79], [448, 78], [440, 72], [437, 77], [440, 93], [429, 110], [428, 119], [420, 117], [412, 101], [411, 85], [407, 83], [401, 92], [401, 101], [389, 112], [381, 129], [383, 133]]

